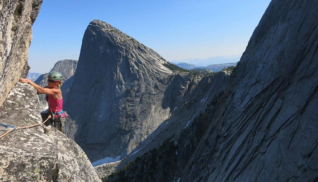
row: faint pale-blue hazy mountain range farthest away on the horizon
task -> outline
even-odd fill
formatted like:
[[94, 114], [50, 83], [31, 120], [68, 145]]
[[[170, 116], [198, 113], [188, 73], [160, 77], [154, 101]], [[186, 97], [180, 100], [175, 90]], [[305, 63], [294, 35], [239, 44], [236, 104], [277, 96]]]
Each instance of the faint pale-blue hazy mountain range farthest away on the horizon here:
[[195, 64], [197, 66], [208, 66], [211, 64], [224, 64], [224, 63], [235, 63], [239, 61], [239, 57], [237, 58], [229, 58], [229, 57], [208, 57], [206, 59], [183, 59], [181, 61], [169, 61], [170, 63], [179, 64], [179, 63], [187, 63], [187, 64]]

